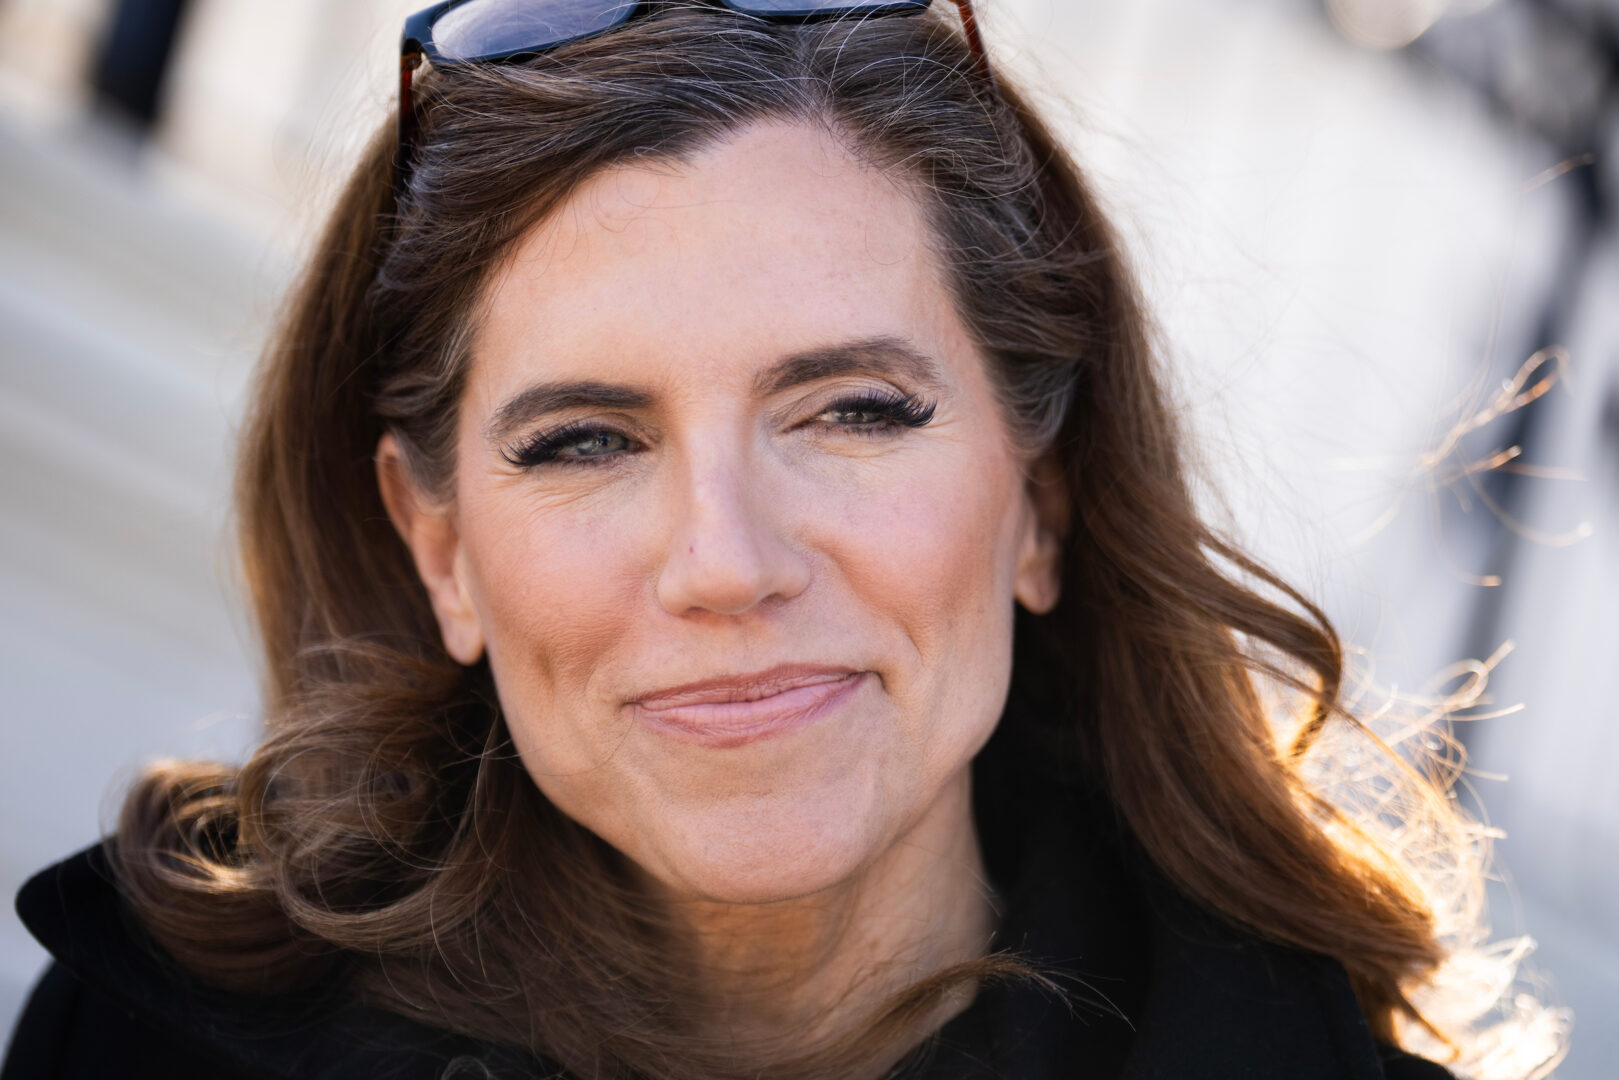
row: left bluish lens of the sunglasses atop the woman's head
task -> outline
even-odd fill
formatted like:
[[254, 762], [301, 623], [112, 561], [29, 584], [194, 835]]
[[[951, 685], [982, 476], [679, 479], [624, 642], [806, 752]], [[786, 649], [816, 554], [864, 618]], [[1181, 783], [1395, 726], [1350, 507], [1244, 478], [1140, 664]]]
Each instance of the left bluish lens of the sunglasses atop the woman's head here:
[[[801, 2], [801, 0], [800, 0]], [[432, 24], [445, 60], [491, 60], [588, 37], [630, 18], [638, 0], [471, 0]]]

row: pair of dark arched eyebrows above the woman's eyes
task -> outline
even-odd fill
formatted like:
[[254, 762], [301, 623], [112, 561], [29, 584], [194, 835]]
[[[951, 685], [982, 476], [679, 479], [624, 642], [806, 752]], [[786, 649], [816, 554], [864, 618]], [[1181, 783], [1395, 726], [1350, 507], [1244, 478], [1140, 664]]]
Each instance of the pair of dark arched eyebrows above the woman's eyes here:
[[[754, 376], [753, 390], [758, 397], [769, 397], [818, 379], [850, 374], [899, 376], [928, 390], [941, 390], [945, 384], [944, 371], [936, 359], [900, 338], [877, 337], [793, 353]], [[547, 413], [572, 408], [638, 410], [649, 408], [652, 402], [654, 395], [649, 390], [618, 382], [594, 379], [536, 382], [507, 398], [489, 418], [484, 434], [491, 442], [500, 442], [523, 424]]]

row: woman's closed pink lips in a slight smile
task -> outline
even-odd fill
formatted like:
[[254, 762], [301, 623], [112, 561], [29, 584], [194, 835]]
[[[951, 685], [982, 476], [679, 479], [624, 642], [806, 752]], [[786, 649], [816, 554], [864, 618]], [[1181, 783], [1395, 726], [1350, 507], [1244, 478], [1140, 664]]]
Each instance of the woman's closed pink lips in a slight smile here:
[[643, 724], [682, 742], [742, 746], [813, 724], [852, 696], [863, 675], [847, 667], [774, 667], [662, 690], [631, 708]]

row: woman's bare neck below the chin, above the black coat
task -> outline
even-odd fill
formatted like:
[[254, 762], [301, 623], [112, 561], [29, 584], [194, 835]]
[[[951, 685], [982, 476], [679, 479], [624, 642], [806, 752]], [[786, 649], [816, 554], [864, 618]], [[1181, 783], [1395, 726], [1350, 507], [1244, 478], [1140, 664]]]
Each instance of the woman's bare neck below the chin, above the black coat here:
[[[992, 892], [973, 826], [971, 772], [858, 879], [774, 904], [682, 902], [712, 988], [704, 1012], [727, 1041], [806, 1049], [860, 1025], [890, 994], [978, 959], [994, 933]], [[949, 994], [902, 1054], [971, 1001]], [[892, 1062], [890, 1062], [892, 1064]]]

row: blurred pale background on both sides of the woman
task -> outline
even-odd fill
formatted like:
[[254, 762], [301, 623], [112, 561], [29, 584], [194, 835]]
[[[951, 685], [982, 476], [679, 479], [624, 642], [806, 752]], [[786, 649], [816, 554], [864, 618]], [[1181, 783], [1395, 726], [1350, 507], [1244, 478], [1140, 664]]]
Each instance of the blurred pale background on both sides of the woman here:
[[[0, 0], [5, 895], [142, 763], [254, 740], [232, 439], [419, 2]], [[981, 6], [1133, 248], [1209, 512], [1373, 695], [1486, 661], [1493, 923], [1575, 1010], [1557, 1075], [1614, 1075], [1619, 0]], [[6, 910], [6, 1028], [44, 959]]]

